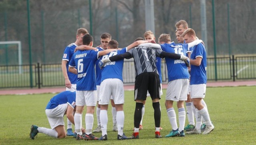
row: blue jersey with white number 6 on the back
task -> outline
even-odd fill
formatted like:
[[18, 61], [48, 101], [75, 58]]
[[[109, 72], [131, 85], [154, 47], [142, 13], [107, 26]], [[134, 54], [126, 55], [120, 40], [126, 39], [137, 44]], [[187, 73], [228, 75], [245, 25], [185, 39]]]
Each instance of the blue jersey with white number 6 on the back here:
[[94, 64], [98, 60], [98, 51], [78, 50], [74, 53], [69, 66], [77, 68], [76, 90], [96, 90], [96, 78]]

